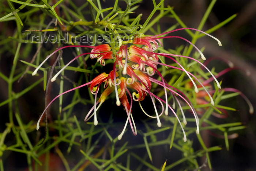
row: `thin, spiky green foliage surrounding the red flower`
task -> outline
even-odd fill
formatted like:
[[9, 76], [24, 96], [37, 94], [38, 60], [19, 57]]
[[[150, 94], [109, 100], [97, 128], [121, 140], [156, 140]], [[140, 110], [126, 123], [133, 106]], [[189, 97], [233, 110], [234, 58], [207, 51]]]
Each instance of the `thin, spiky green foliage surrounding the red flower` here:
[[[91, 120], [84, 122], [86, 113], [94, 105], [94, 96], [87, 87], [76, 89], [58, 98], [46, 113], [48, 122], [41, 122], [40, 129], [36, 130], [37, 120], [50, 100], [68, 89], [90, 82], [106, 70], [96, 60], [91, 60], [90, 55], [84, 55], [78, 58], [74, 65], [66, 67], [60, 77], [57, 77], [56, 82], [50, 82], [53, 73], [64, 67], [65, 63], [77, 55], [91, 51], [89, 48], [71, 47], [57, 52], [52, 61], [46, 62], [35, 76], [31, 76], [34, 69], [54, 50], [66, 45], [81, 45], [84, 42], [76, 41], [75, 36], [83, 35], [89, 35], [86, 45], [97, 46], [101, 44], [98, 41], [98, 35], [106, 34], [109, 36], [106, 38], [109, 40], [107, 43], [113, 51], [118, 51], [121, 44], [131, 43], [121, 42], [121, 39], [131, 40], [135, 35], [157, 35], [187, 27], [173, 7], [165, 6], [164, 0], [157, 2], [152, 0], [152, 2], [151, 13], [143, 22], [142, 14], [135, 13], [134, 17], [134, 11], [139, 8], [142, 0], [115, 0], [111, 3], [112, 7], [105, 7], [105, 3], [100, 0], [87, 0], [84, 4], [76, 4], [71, 0], [57, 2], [7, 0], [7, 3], [3, 3], [4, 7], [1, 8], [0, 13], [0, 22], [3, 26], [0, 35], [1, 60], [8, 52], [11, 58], [9, 61], [12, 63], [9, 64], [8, 72], [0, 70], [0, 79], [7, 85], [6, 98], [0, 101], [0, 108], [4, 111], [1, 113], [1, 118], [6, 123], [3, 132], [0, 133], [0, 171], [9, 170], [8, 160], [15, 154], [19, 154], [18, 157], [22, 158], [14, 159], [14, 162], [22, 162], [16, 167], [23, 167], [22, 169], [29, 171], [53, 168], [68, 171], [94, 169], [140, 171], [146, 168], [155, 171], [161, 169], [167, 171], [173, 168], [196, 170], [202, 168], [200, 158], [204, 158], [207, 167], [211, 169], [210, 153], [229, 150], [230, 135], [239, 133], [245, 125], [239, 121], [216, 119], [212, 114], [223, 116], [225, 115], [223, 110], [236, 111], [237, 109], [226, 106], [222, 102], [227, 99], [232, 100], [241, 93], [227, 93], [225, 90], [219, 90], [215, 82], [211, 82], [205, 86], [209, 89], [210, 86], [213, 87], [211, 95], [214, 105], [207, 97], [206, 104], [198, 104], [198, 97], [187, 75], [180, 70], [165, 66], [159, 66], [158, 70], [167, 78], [168, 84], [184, 93], [195, 110], [200, 112], [200, 132], [197, 135], [195, 118], [189, 106], [182, 104], [188, 123], [187, 125], [182, 123], [188, 137], [187, 142], [183, 141], [181, 127], [171, 112], [167, 116], [161, 116], [162, 127], [158, 128], [155, 120], [142, 116], [144, 114], [138, 106], [132, 109], [138, 125], [138, 135], [132, 135], [130, 129], [127, 129], [123, 138], [118, 140], [126, 117], [123, 108], [116, 106], [114, 100], [112, 101], [115, 98], [112, 95], [108, 97], [109, 102], [98, 110], [98, 125], [95, 126]], [[198, 30], [202, 30], [215, 2], [216, 0], [212, 0], [209, 4], [197, 27]], [[126, 8], [120, 8], [120, 5], [126, 5]], [[235, 16], [230, 16], [205, 32], [213, 33]], [[177, 24], [162, 30], [159, 24], [162, 18], [176, 20]], [[9, 23], [15, 27], [11, 30], [11, 34], [8, 30]], [[192, 30], [183, 32], [193, 44], [204, 36]], [[203, 63], [200, 54], [193, 53], [193, 50], [191, 44], [188, 46], [179, 44], [175, 49], [169, 49], [167, 44], [163, 44], [157, 51], [193, 57]], [[161, 57], [159, 59], [164, 64], [179, 67], [172, 61]], [[197, 78], [200, 80], [211, 77], [195, 61], [180, 57], [176, 60], [187, 71], [198, 75]], [[108, 64], [112, 66], [113, 62], [106, 61], [106, 66]], [[218, 70], [217, 66], [210, 70], [214, 75], [218, 74], [215, 71]], [[161, 80], [157, 75], [155, 77]], [[99, 91], [102, 92], [102, 90]], [[165, 94], [163, 89], [159, 90], [157, 84], [153, 84], [151, 91], [154, 91], [158, 97], [163, 97]], [[199, 87], [199, 92], [203, 91], [203, 88]], [[171, 105], [174, 97], [169, 95], [168, 101]], [[153, 110], [150, 108], [151, 104], [150, 101], [142, 101], [142, 106], [146, 108], [148, 106], [149, 109], [146, 109], [148, 112]], [[161, 110], [161, 105], [157, 105]], [[178, 117], [182, 118], [177, 104], [176, 111]], [[208, 147], [201, 133], [206, 130], [223, 136], [224, 140], [220, 141], [222, 144]], [[173, 156], [174, 153], [176, 156]], [[55, 160], [56, 163], [52, 163], [51, 160]]]

